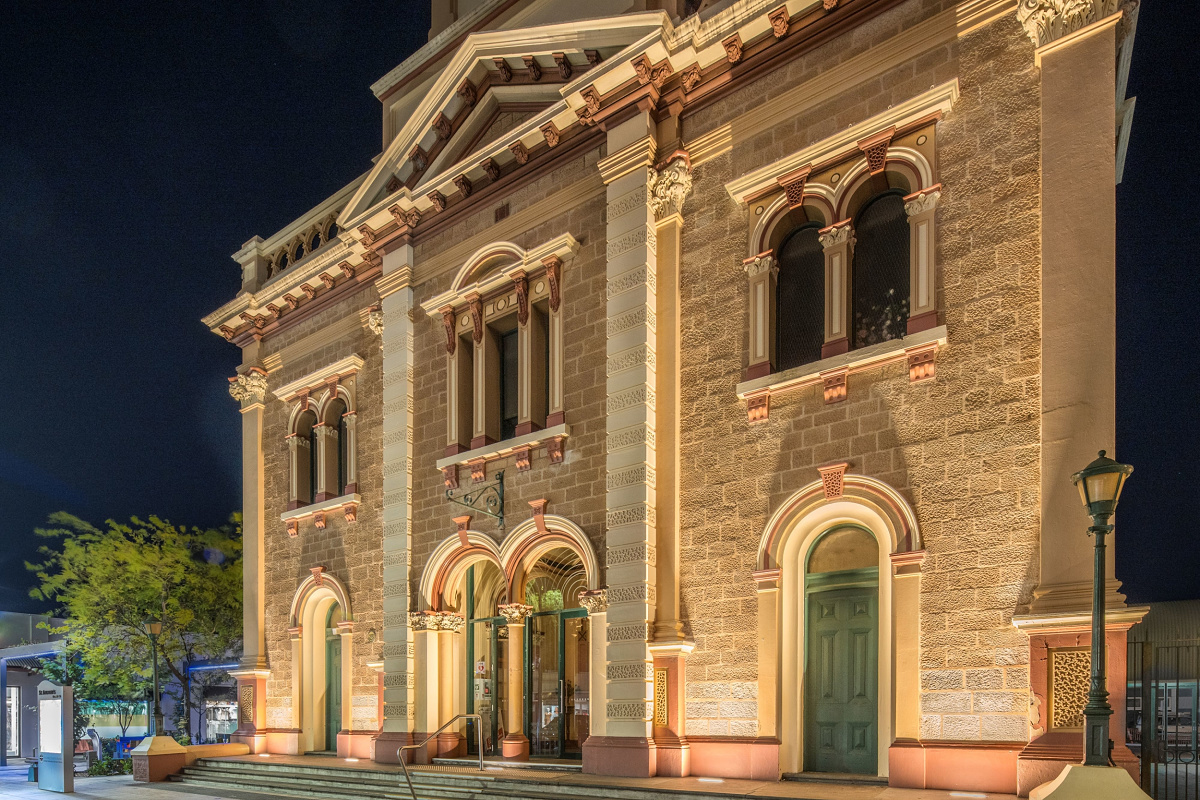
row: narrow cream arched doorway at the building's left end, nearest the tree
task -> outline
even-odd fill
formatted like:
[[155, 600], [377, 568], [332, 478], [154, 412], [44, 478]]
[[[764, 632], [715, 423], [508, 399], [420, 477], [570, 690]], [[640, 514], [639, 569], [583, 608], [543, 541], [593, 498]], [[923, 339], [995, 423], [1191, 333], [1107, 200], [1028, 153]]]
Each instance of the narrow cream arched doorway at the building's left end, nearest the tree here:
[[346, 587], [314, 569], [296, 590], [289, 622], [299, 750], [348, 754], [349, 742], [340, 742], [340, 734], [350, 728], [348, 676], [354, 663], [354, 618]]

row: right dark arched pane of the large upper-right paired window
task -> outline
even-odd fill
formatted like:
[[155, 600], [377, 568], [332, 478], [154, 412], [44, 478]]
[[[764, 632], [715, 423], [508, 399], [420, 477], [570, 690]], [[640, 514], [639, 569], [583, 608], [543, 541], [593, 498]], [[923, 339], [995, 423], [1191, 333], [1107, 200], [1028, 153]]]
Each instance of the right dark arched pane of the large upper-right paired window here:
[[852, 347], [904, 338], [908, 323], [908, 217], [904, 192], [868, 200], [854, 219]]

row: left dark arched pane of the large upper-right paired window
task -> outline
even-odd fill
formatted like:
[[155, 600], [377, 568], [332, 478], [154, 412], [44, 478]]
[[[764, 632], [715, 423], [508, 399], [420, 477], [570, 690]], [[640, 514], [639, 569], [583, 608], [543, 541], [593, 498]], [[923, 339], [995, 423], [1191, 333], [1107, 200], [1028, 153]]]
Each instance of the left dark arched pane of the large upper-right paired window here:
[[779, 246], [776, 283], [776, 368], [821, 359], [824, 343], [824, 251], [820, 223], [796, 228]]

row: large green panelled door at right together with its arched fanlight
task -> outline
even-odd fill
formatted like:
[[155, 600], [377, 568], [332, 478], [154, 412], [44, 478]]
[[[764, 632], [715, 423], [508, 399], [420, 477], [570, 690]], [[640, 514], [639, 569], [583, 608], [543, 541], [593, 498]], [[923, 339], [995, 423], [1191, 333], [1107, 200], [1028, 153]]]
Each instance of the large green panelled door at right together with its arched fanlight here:
[[804, 770], [875, 775], [878, 766], [880, 569], [858, 525], [824, 531], [804, 575]]

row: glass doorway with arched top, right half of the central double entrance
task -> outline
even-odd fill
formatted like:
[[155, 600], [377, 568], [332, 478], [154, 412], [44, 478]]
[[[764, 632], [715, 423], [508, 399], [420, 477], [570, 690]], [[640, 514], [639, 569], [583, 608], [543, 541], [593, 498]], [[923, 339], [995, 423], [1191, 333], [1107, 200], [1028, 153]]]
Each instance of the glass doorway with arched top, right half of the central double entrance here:
[[582, 758], [588, 738], [588, 627], [580, 593], [587, 570], [569, 547], [541, 554], [526, 573], [526, 736], [529, 754]]

